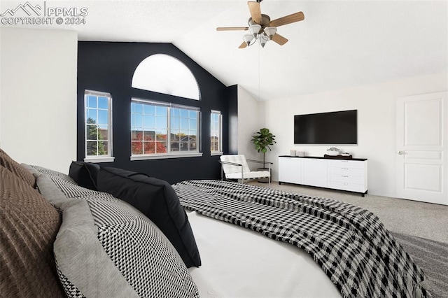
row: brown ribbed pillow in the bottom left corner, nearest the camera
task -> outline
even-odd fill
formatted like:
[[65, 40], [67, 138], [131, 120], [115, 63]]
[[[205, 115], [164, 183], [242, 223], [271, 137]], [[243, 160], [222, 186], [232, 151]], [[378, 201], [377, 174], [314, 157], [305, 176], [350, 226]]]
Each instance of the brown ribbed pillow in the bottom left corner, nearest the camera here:
[[64, 297], [53, 258], [59, 213], [3, 166], [0, 175], [0, 296]]

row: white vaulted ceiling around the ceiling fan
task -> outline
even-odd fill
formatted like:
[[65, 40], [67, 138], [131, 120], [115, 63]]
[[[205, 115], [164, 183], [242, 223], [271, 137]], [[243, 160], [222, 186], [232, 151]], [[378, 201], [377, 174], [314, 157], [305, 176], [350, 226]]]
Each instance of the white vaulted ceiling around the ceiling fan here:
[[[25, 2], [2, 0], [0, 13]], [[225, 85], [238, 84], [260, 100], [448, 69], [448, 1], [265, 0], [260, 5], [272, 20], [304, 13], [302, 22], [278, 28], [288, 43], [239, 49], [244, 31], [216, 31], [247, 25], [244, 0], [45, 1], [47, 8], [87, 8], [86, 24], [14, 27], [76, 30], [80, 41], [174, 43]]]

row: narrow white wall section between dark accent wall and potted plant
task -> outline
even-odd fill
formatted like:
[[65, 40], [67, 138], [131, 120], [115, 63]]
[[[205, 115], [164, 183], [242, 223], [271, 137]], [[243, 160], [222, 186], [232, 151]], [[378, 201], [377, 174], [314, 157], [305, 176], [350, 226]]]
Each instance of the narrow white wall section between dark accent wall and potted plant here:
[[[251, 142], [253, 134], [262, 128], [259, 108], [259, 101], [238, 86], [238, 154], [245, 155], [246, 159], [262, 160], [262, 154], [255, 150]], [[249, 166], [255, 169], [259, 165]]]

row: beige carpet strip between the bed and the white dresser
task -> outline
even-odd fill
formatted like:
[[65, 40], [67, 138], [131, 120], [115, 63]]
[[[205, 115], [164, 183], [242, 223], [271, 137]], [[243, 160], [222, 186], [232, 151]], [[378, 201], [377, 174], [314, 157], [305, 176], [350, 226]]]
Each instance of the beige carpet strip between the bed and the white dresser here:
[[[269, 187], [267, 183], [256, 181], [250, 182], [250, 184]], [[357, 205], [375, 213], [391, 232], [448, 243], [448, 206], [371, 194], [361, 197], [360, 194], [319, 187], [285, 183], [279, 185], [275, 181], [270, 184], [270, 187]]]

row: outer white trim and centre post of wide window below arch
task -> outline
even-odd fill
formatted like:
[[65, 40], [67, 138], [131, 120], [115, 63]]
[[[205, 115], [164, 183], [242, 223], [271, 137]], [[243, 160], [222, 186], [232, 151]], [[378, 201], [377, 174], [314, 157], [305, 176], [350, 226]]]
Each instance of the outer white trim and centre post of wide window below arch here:
[[[169, 159], [169, 158], [179, 158], [179, 157], [202, 157], [201, 152], [201, 109], [197, 106], [186, 106], [181, 104], [172, 104], [164, 101], [152, 101], [149, 99], [139, 99], [136, 97], [131, 98], [131, 104], [132, 101], [138, 101], [143, 104], [153, 104], [157, 106], [167, 106], [167, 108], [184, 108], [192, 111], [198, 112], [198, 118], [197, 118], [197, 140], [196, 140], [196, 147], [197, 151], [186, 151], [186, 152], [179, 152], [179, 151], [172, 151], [169, 153], [158, 153], [158, 154], [146, 154], [146, 155], [132, 155], [130, 156], [130, 160], [144, 160], [144, 159]], [[171, 132], [171, 113], [169, 110], [167, 111], [167, 132]], [[171, 150], [171, 144], [167, 141], [167, 151]]]

